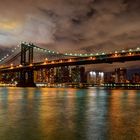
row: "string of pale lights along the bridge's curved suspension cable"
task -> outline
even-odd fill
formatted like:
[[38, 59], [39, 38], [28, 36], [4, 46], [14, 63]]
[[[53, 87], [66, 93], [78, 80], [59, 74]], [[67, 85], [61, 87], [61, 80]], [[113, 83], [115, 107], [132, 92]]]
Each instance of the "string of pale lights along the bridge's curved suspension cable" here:
[[[98, 55], [106, 55], [105, 52], [96, 53], [96, 54], [93, 54], [93, 53], [90, 53], [90, 54], [87, 54], [87, 53], [86, 54], [82, 54], [82, 53], [80, 53], [80, 54], [78, 54], [78, 53], [60, 53], [60, 52], [55, 52], [55, 51], [52, 51], [52, 50], [49, 50], [49, 49], [44, 49], [44, 48], [38, 47], [38, 46], [36, 46], [36, 45], [34, 45], [32, 43], [22, 42], [21, 44], [27, 45], [29, 47], [34, 47], [34, 49], [36, 49], [37, 51], [40, 51], [40, 52], [43, 52], [43, 53], [47, 53], [47, 54], [52, 54], [52, 55], [55, 54], [55, 55], [64, 55], [64, 56], [71, 56], [71, 57], [88, 57], [88, 56], [92, 57], [92, 56], [98, 56]], [[11, 51], [10, 51], [12, 53], [11, 55], [13, 55], [15, 53], [15, 51], [20, 48], [20, 45], [18, 45], [17, 47], [11, 49]], [[115, 54], [117, 54], [117, 53], [125, 53], [125, 52], [133, 53], [135, 51], [140, 51], [140, 48], [137, 47], [135, 49], [121, 50], [121, 51], [115, 51], [115, 52], [110, 52], [110, 53], [115, 53]], [[2, 57], [0, 59], [0, 63], [3, 62], [8, 57], [10, 57], [11, 55], [10, 54], [6, 54], [4, 57]]]

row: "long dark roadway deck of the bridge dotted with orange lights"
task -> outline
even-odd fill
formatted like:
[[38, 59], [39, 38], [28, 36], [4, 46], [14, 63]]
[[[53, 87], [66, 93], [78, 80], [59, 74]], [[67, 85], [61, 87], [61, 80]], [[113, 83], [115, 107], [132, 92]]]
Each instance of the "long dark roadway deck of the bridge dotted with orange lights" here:
[[42, 68], [54, 68], [61, 66], [76, 66], [76, 65], [87, 65], [87, 64], [102, 64], [102, 63], [114, 63], [114, 62], [126, 62], [126, 61], [136, 61], [140, 60], [140, 50], [135, 52], [121, 52], [121, 53], [109, 53], [102, 55], [95, 55], [91, 57], [72, 57], [69, 59], [59, 59], [59, 60], [47, 60], [44, 62], [38, 62], [33, 64], [28, 64], [25, 66], [0, 66], [0, 72], [10, 72], [10, 71], [21, 71], [26, 69], [38, 70]]

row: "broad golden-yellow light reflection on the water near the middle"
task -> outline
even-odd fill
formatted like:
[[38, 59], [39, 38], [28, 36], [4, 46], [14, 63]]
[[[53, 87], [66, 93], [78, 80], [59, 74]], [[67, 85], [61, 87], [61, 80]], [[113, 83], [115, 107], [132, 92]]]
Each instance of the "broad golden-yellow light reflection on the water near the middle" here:
[[76, 89], [41, 91], [40, 127], [44, 135], [48, 134], [48, 139], [74, 139]]

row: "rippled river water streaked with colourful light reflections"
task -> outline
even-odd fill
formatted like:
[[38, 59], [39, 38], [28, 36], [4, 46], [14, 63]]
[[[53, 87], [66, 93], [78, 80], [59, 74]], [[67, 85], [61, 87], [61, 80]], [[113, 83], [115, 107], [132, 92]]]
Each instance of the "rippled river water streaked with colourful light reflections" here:
[[140, 91], [0, 88], [0, 140], [139, 140]]

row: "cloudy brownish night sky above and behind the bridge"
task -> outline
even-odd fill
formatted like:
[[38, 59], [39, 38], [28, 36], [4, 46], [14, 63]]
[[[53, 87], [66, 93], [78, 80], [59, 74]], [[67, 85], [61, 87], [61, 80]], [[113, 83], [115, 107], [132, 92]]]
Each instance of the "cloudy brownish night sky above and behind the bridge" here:
[[[68, 53], [110, 52], [140, 46], [140, 1], [0, 1], [0, 52], [21, 41]], [[124, 64], [111, 67], [119, 66]], [[140, 63], [127, 66], [139, 67]]]

